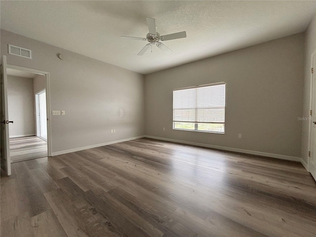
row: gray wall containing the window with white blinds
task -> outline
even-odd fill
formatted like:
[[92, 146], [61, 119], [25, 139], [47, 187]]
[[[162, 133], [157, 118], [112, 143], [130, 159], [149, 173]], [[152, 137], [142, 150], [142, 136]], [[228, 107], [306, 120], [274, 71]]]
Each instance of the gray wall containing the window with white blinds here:
[[[146, 75], [146, 134], [300, 157], [303, 68], [304, 35], [296, 34]], [[173, 130], [172, 89], [220, 81], [225, 134]]]

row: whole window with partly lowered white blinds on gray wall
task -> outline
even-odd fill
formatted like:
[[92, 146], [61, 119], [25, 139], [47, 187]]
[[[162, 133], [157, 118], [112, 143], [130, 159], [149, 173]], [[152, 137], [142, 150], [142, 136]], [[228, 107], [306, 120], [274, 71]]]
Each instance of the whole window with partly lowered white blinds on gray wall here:
[[173, 90], [173, 129], [225, 133], [226, 84]]

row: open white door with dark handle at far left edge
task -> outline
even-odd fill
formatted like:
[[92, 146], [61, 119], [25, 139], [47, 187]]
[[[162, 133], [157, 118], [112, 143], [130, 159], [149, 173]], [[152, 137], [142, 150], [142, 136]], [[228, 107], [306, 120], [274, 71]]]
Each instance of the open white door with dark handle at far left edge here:
[[1, 169], [7, 174], [11, 174], [11, 160], [10, 160], [10, 147], [9, 147], [9, 118], [8, 118], [8, 98], [7, 98], [7, 77], [6, 77], [6, 56], [3, 56], [1, 63], [1, 129], [0, 129], [0, 166]]

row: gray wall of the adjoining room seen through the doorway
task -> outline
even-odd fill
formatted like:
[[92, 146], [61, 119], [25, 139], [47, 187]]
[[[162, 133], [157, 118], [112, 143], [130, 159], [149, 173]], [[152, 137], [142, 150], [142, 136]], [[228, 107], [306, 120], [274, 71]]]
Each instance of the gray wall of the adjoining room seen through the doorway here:
[[33, 79], [8, 76], [9, 136], [35, 135]]

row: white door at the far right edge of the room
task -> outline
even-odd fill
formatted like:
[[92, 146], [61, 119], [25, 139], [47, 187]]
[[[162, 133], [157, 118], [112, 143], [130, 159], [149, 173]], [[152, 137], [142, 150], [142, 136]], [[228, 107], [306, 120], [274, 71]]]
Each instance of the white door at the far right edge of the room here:
[[312, 126], [310, 172], [316, 180], [316, 55], [313, 58]]

